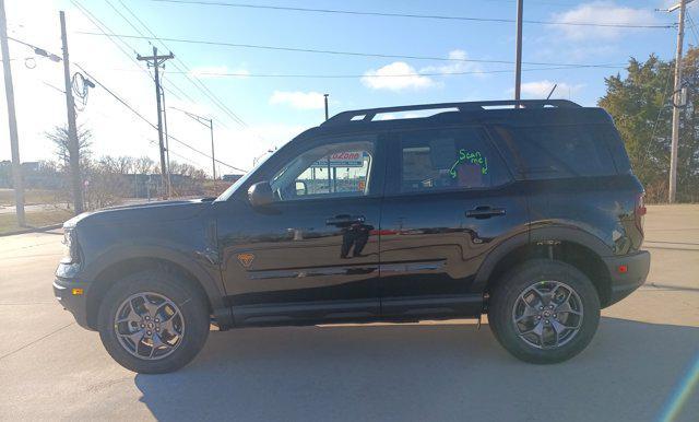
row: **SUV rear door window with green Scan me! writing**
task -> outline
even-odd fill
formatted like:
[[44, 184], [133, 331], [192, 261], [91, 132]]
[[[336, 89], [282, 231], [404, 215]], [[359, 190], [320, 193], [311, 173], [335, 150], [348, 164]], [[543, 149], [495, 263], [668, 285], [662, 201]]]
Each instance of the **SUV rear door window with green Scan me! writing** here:
[[503, 185], [507, 169], [475, 128], [401, 136], [401, 192]]

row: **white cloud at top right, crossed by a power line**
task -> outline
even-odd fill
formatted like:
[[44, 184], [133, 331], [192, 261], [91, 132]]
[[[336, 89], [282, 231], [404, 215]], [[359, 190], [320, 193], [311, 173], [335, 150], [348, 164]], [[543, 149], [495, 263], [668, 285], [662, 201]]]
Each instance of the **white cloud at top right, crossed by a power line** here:
[[[597, 23], [597, 24], [627, 24], [627, 25], [655, 25], [659, 21], [650, 8], [629, 8], [616, 5], [611, 1], [594, 1], [580, 4], [567, 12], [554, 13], [552, 21], [566, 23]], [[578, 25], [556, 25], [556, 31], [560, 32], [570, 40], [581, 42], [590, 39], [617, 39], [623, 34], [633, 30], [612, 26], [578, 26]]]

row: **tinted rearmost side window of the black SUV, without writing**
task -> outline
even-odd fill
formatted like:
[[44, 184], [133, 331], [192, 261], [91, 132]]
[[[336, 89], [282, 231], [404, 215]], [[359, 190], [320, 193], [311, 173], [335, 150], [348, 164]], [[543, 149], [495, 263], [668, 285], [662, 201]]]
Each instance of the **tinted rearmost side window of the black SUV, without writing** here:
[[508, 160], [530, 179], [602, 176], [616, 168], [605, 136], [596, 126], [536, 126], [496, 131]]

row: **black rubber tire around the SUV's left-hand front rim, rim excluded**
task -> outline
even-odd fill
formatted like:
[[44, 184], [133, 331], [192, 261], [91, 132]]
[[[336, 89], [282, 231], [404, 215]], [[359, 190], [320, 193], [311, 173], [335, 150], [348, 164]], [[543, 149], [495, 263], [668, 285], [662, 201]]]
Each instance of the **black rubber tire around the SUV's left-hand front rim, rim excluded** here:
[[[164, 354], [155, 360], [139, 357], [129, 352], [127, 347], [121, 344], [116, 331], [122, 329], [115, 321], [117, 313], [123, 309], [125, 301], [145, 292], [155, 293], [171, 301], [178, 307], [181, 321], [183, 321], [181, 324], [183, 327], [182, 336], [175, 342], [177, 347], [168, 352], [169, 354]], [[114, 283], [102, 301], [97, 324], [102, 343], [121, 366], [141, 374], [163, 374], [187, 365], [199, 353], [209, 336], [210, 315], [206, 300], [201, 292], [176, 273], [147, 270], [128, 276]], [[145, 342], [139, 343], [135, 347], [137, 351], [139, 347], [147, 345]]]

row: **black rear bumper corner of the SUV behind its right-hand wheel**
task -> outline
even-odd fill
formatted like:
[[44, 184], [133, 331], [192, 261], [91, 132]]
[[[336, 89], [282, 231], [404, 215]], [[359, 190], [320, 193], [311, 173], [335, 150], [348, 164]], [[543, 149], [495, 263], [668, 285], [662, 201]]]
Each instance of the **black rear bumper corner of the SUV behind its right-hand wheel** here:
[[[651, 268], [651, 254], [648, 250], [603, 259], [612, 279], [609, 301], [605, 306], [619, 302], [640, 288], [645, 282], [648, 271]], [[621, 267], [626, 267], [626, 272], [619, 270]]]

